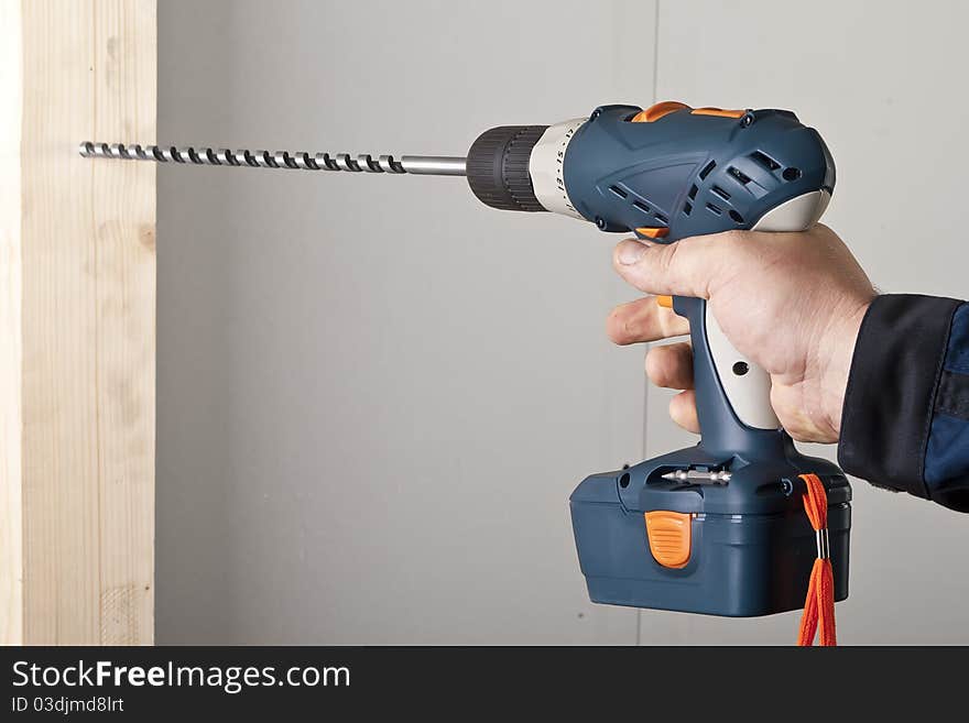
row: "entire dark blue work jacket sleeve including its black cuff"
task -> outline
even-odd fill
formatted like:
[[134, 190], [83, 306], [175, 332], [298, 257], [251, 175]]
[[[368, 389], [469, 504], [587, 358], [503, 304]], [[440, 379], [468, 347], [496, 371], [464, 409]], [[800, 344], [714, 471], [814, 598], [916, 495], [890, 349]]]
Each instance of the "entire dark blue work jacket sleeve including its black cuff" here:
[[969, 512], [969, 304], [886, 294], [854, 348], [838, 461], [878, 486]]

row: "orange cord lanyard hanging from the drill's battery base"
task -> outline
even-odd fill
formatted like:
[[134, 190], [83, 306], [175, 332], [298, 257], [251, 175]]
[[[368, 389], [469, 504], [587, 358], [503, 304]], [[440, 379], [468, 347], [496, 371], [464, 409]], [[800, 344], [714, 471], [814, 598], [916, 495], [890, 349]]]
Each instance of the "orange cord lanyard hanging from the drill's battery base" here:
[[804, 512], [817, 535], [818, 557], [810, 570], [797, 645], [810, 646], [815, 632], [818, 634], [818, 645], [838, 645], [835, 636], [835, 573], [828, 544], [828, 495], [817, 474], [802, 474], [801, 479], [807, 485]]

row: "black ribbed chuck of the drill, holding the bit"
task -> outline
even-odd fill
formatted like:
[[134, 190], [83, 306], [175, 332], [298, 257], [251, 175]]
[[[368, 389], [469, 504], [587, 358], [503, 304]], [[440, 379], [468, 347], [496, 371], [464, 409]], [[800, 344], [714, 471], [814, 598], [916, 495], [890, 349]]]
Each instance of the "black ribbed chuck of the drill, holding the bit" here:
[[547, 210], [535, 196], [529, 163], [547, 125], [500, 125], [484, 131], [468, 151], [471, 191], [486, 206], [505, 211]]

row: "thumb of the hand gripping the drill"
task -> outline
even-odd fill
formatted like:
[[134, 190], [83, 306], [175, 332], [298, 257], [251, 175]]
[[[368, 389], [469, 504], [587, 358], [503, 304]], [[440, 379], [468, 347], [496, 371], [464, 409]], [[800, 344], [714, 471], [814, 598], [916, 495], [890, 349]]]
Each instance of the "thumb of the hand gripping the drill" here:
[[698, 235], [660, 244], [627, 239], [616, 247], [612, 265], [646, 294], [709, 298], [711, 281], [732, 245], [727, 234]]

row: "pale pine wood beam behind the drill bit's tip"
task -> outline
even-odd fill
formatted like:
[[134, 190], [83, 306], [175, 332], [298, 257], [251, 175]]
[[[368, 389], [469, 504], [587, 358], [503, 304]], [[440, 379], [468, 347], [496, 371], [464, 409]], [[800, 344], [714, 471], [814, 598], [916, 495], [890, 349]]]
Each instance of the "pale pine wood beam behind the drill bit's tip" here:
[[154, 139], [155, 2], [2, 0], [0, 19], [20, 55], [0, 87], [20, 107], [0, 117], [19, 189], [0, 206], [0, 639], [151, 643], [154, 168], [76, 146]]

